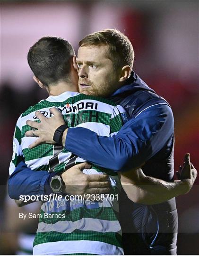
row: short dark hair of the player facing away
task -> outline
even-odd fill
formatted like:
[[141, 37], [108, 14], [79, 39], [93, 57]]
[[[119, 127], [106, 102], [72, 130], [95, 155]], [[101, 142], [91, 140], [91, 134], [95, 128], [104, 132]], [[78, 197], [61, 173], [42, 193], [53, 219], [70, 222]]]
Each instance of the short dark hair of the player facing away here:
[[59, 37], [42, 37], [30, 49], [28, 64], [45, 85], [68, 81], [70, 59], [75, 55], [70, 43]]

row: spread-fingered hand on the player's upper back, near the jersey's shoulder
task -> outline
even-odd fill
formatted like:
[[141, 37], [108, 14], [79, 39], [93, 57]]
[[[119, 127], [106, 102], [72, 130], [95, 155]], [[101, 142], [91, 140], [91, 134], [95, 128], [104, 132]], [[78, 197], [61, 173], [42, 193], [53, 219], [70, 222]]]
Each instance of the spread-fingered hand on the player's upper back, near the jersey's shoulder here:
[[37, 129], [34, 130], [34, 133], [33, 130], [26, 131], [26, 137], [39, 137], [29, 146], [29, 148], [33, 148], [43, 143], [55, 144], [55, 141], [53, 140], [54, 132], [58, 127], [65, 124], [65, 121], [58, 109], [52, 108], [50, 109], [50, 112], [54, 115], [51, 118], [44, 117], [39, 111], [35, 112], [36, 117], [41, 121], [41, 123], [30, 120], [26, 121], [27, 125]]

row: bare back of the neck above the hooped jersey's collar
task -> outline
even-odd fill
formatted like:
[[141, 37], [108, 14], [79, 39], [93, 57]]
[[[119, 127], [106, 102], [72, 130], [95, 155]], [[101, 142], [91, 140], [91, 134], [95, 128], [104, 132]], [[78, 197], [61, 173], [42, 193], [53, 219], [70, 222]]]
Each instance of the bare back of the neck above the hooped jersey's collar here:
[[58, 82], [55, 85], [49, 85], [46, 90], [50, 96], [58, 96], [65, 91], [78, 91], [77, 86], [69, 82]]

